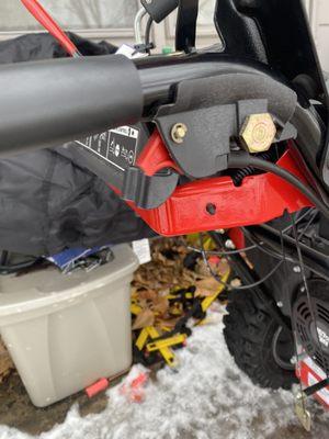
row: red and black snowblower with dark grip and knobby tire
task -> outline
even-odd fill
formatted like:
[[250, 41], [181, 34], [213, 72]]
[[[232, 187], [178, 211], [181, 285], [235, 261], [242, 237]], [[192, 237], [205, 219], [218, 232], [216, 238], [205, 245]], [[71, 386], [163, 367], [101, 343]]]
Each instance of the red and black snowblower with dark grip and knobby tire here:
[[262, 386], [297, 375], [309, 429], [307, 397], [329, 407], [329, 101], [303, 2], [217, 0], [218, 45], [202, 50], [197, 0], [141, 3], [135, 53], [177, 9], [171, 56], [0, 68], [1, 157], [75, 142], [157, 234], [214, 230], [242, 281], [225, 285], [228, 348]]

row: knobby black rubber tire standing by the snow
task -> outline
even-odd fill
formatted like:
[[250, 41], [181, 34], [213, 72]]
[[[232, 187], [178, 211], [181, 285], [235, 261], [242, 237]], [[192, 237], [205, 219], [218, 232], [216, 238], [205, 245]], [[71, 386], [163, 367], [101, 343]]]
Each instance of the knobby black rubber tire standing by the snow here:
[[[237, 365], [261, 387], [290, 390], [297, 382], [295, 371], [275, 361], [273, 340], [280, 325], [252, 292], [229, 295], [224, 336]], [[293, 338], [285, 334], [284, 349], [294, 352]]]

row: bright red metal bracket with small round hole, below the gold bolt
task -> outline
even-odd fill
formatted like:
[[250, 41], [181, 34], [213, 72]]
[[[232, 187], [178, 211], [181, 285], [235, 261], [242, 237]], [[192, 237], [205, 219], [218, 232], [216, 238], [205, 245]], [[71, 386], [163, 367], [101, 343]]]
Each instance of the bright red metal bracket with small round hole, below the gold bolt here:
[[[158, 148], [161, 160], [155, 160], [156, 155], [148, 154]], [[147, 175], [161, 168], [157, 162], [178, 169], [157, 132], [146, 149], [144, 158], [149, 161], [138, 160], [138, 164], [143, 164]], [[291, 149], [287, 149], [277, 166], [306, 183]], [[154, 230], [163, 236], [262, 224], [282, 216], [285, 210], [293, 213], [313, 206], [295, 187], [272, 173], [247, 177], [240, 187], [235, 187], [229, 177], [189, 182], [178, 187], [160, 207], [149, 211], [138, 209], [132, 202], [128, 204]]]

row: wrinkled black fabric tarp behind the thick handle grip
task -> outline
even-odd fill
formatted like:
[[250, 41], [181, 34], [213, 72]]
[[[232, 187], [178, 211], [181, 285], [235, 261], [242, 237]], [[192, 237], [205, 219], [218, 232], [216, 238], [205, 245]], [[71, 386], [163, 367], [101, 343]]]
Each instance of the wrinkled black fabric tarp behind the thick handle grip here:
[[[84, 56], [115, 52], [105, 42], [69, 35]], [[0, 64], [64, 56], [48, 34], [0, 43]], [[70, 146], [57, 147], [0, 160], [0, 249], [48, 256], [152, 236], [102, 180], [73, 161], [69, 150]]]

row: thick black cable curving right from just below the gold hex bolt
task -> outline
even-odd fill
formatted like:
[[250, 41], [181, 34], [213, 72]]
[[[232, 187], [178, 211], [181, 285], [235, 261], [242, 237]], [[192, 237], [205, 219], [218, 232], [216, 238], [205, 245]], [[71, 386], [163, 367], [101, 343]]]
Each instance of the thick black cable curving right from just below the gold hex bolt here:
[[228, 158], [228, 168], [239, 169], [252, 166], [262, 171], [275, 173], [275, 176], [286, 180], [297, 188], [314, 205], [329, 218], [329, 207], [315, 194], [315, 192], [298, 180], [293, 173], [270, 161], [262, 160], [249, 154], [231, 154]]

